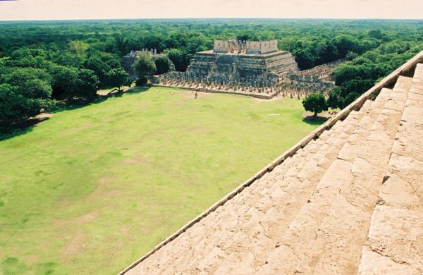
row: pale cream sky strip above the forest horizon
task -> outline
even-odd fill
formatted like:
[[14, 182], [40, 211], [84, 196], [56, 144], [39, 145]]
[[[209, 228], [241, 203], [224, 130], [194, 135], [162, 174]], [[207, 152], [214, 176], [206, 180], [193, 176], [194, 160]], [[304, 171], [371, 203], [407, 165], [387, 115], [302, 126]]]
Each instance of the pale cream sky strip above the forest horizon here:
[[423, 19], [423, 0], [0, 0], [0, 20], [109, 18]]

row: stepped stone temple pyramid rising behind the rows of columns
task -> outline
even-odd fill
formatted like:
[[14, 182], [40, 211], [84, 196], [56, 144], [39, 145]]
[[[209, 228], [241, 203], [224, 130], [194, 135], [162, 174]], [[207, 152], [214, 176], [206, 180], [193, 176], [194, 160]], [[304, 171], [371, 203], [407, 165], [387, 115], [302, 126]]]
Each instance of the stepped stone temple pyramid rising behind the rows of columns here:
[[247, 85], [257, 82], [270, 85], [279, 75], [299, 71], [289, 51], [278, 50], [278, 40], [215, 40], [214, 49], [195, 54], [187, 68], [187, 77], [222, 84]]

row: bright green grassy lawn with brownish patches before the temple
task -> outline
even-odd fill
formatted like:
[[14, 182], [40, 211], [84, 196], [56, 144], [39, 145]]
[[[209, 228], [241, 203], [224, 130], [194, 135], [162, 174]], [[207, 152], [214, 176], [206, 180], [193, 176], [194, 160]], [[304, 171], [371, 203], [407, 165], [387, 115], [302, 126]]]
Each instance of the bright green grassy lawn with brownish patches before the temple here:
[[0, 141], [0, 274], [116, 274], [316, 128], [302, 113], [152, 87]]

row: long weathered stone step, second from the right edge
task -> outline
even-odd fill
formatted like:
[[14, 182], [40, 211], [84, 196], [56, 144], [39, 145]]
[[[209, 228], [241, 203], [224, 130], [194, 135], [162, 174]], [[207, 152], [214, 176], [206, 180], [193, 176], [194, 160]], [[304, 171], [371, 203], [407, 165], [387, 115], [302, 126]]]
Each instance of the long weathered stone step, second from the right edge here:
[[[356, 147], [350, 171], [331, 208], [316, 231], [297, 270], [305, 273], [354, 274], [369, 228], [370, 216], [384, 178], [396, 129], [410, 90], [411, 79], [400, 78], [378, 116], [370, 135]], [[352, 158], [349, 158], [352, 159]], [[313, 248], [312, 250], [310, 250]], [[320, 248], [320, 249], [319, 249]]]

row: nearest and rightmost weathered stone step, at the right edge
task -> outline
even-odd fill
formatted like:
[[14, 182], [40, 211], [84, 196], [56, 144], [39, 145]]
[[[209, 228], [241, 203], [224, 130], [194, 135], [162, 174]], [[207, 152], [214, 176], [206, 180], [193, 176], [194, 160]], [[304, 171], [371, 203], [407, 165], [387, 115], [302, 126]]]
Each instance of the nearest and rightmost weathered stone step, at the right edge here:
[[359, 274], [423, 274], [423, 64], [401, 120]]

